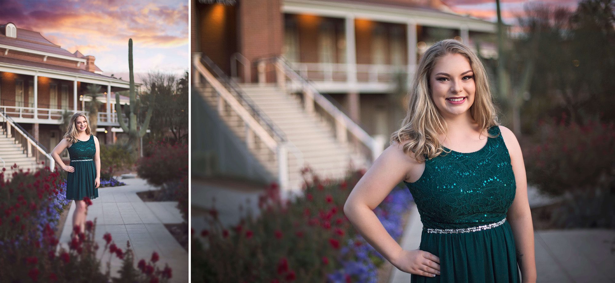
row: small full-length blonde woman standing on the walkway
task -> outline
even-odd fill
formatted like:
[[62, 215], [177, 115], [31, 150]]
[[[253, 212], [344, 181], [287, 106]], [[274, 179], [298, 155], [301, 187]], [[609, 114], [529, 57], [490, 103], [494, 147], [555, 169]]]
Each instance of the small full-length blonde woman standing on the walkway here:
[[[68, 166], [60, 159], [65, 148], [68, 148], [71, 159]], [[75, 201], [73, 227], [79, 226], [83, 232], [87, 215], [84, 197], [97, 198], [100, 186], [100, 145], [98, 138], [92, 135], [85, 114], [77, 112], [73, 115], [63, 140], [55, 146], [51, 156], [62, 170], [68, 172], [66, 199]]]

